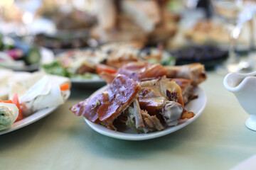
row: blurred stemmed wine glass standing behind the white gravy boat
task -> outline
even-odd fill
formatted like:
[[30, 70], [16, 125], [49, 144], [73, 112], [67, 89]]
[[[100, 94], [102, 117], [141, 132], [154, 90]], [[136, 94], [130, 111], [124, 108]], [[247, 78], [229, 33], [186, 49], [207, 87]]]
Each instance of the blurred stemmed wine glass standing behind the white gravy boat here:
[[225, 64], [218, 66], [220, 74], [242, 71], [244, 64], [235, 54], [235, 45], [245, 22], [252, 19], [255, 13], [255, 1], [245, 0], [211, 0], [217, 16], [226, 24], [229, 35], [229, 57]]

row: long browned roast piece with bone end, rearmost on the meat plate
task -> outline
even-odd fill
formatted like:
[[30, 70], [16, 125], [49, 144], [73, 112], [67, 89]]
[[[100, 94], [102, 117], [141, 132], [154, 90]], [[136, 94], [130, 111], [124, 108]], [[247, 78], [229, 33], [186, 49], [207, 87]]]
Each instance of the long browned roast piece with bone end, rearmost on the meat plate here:
[[[124, 74], [135, 81], [148, 78], [168, 77], [172, 79], [182, 78], [192, 81], [193, 86], [198, 86], [206, 80], [206, 70], [203, 64], [187, 64], [182, 66], [166, 66], [161, 64], [149, 64], [144, 62], [132, 62], [119, 68], [117, 74]], [[100, 77], [107, 83], [112, 82], [116, 74], [101, 72]]]

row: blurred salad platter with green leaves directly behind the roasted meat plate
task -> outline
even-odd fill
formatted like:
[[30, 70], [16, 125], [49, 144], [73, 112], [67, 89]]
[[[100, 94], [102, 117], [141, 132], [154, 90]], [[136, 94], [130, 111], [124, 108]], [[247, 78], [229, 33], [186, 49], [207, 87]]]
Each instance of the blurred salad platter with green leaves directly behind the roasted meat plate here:
[[48, 74], [69, 77], [72, 84], [105, 85], [99, 73], [114, 73], [129, 62], [175, 64], [169, 52], [158, 48], [145, 48], [140, 42], [115, 42], [97, 48], [70, 50], [56, 55], [55, 60], [43, 64]]

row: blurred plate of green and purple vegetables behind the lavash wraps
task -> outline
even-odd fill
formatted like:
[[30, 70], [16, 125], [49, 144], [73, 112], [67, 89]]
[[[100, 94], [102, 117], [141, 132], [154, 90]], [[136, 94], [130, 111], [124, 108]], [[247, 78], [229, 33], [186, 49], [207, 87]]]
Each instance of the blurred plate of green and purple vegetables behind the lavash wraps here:
[[53, 52], [36, 45], [0, 35], [0, 67], [15, 71], [33, 72], [43, 63], [54, 60]]

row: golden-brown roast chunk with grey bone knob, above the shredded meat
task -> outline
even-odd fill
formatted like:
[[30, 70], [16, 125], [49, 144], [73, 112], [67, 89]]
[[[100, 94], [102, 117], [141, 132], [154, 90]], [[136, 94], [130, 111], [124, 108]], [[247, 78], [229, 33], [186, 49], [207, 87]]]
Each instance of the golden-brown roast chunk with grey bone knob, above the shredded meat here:
[[174, 80], [167, 78], [139, 81], [139, 106], [149, 115], [163, 119], [166, 125], [177, 125], [184, 108], [181, 87]]

